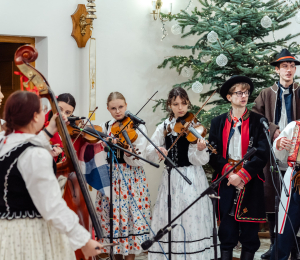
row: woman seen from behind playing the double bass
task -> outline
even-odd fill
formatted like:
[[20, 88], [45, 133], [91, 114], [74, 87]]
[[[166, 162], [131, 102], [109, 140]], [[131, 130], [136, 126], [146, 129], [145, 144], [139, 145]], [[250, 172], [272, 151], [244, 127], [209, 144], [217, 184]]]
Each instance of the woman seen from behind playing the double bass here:
[[[46, 131], [39, 97], [14, 92], [4, 108], [6, 132], [0, 133], [1, 260], [76, 259], [102, 247], [91, 240], [78, 216], [61, 197], [49, 151], [49, 135], [57, 132], [54, 115]], [[39, 133], [39, 134], [36, 134]]]

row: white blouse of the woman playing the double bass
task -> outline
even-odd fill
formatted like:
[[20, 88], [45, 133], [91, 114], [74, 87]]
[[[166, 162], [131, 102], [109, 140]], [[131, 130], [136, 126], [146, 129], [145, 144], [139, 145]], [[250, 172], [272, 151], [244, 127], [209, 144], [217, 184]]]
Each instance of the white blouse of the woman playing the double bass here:
[[42, 217], [54, 228], [68, 236], [75, 251], [84, 246], [91, 238], [90, 233], [79, 224], [78, 216], [67, 206], [61, 197], [61, 190], [53, 172], [52, 149], [43, 131], [38, 135], [12, 133], [7, 137], [0, 133], [0, 157], [14, 147], [30, 141], [39, 147], [28, 147], [17, 162], [27, 190]]

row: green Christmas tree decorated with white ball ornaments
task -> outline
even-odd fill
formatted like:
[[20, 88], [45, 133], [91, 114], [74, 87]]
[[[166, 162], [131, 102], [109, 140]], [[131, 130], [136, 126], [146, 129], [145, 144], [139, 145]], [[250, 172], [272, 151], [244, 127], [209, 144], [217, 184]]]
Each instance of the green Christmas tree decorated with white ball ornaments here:
[[[175, 15], [163, 15], [164, 18], [176, 20], [182, 36], [193, 37], [195, 45], [174, 45], [175, 49], [187, 51], [186, 56], [172, 56], [158, 66], [159, 69], [169, 66], [181, 73], [192, 72], [188, 81], [173, 87], [190, 89], [210, 84], [210, 90], [199, 94], [203, 102], [214, 90], [232, 75], [245, 75], [252, 79], [255, 91], [249, 98], [248, 107], [259, 92], [274, 84], [278, 77], [274, 67], [269, 63], [275, 60], [282, 48], [287, 48], [293, 55], [300, 54], [300, 45], [296, 42], [288, 44], [300, 33], [279, 38], [275, 32], [286, 28], [290, 18], [296, 16], [300, 23], [299, 1], [282, 0], [199, 0], [202, 8], [195, 8], [191, 14], [181, 11]], [[300, 30], [299, 30], [300, 32]], [[266, 36], [272, 35], [271, 41]], [[200, 84], [201, 83], [201, 84]], [[194, 85], [193, 85], [194, 84]], [[215, 94], [218, 95], [218, 94]], [[213, 108], [202, 110], [198, 118], [209, 128], [212, 118], [229, 111], [230, 104], [221, 97], [210, 102]], [[157, 100], [154, 111], [159, 106], [166, 110], [166, 100]], [[193, 106], [191, 112], [196, 112]]]

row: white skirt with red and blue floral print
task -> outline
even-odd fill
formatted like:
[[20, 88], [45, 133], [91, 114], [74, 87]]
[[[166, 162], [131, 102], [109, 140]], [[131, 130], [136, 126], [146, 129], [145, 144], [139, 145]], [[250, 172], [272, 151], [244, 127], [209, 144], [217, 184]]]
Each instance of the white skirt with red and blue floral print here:
[[[120, 245], [114, 247], [114, 254], [138, 255], [143, 252], [141, 244], [149, 239], [148, 224], [151, 221], [151, 211], [148, 183], [142, 167], [121, 164], [120, 168], [128, 187], [120, 169], [115, 168], [113, 170], [113, 237], [114, 242], [119, 242]], [[109, 197], [98, 192], [96, 209], [104, 237], [107, 237], [100, 239], [99, 242], [109, 243]], [[104, 252], [109, 252], [109, 248], [104, 248]]]

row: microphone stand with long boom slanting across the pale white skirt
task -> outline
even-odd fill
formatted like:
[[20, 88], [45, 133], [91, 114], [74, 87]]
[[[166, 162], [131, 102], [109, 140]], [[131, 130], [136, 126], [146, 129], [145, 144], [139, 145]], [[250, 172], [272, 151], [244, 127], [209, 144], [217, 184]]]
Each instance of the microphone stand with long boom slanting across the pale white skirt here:
[[[216, 200], [220, 199], [219, 196], [217, 196], [217, 193], [215, 189], [218, 187], [219, 183], [223, 181], [228, 174], [233, 172], [237, 166], [239, 166], [241, 163], [243, 163], [245, 160], [248, 160], [255, 152], [256, 148], [251, 148], [249, 152], [247, 152], [242, 160], [240, 160], [237, 164], [235, 164], [228, 172], [226, 172], [223, 176], [221, 176], [219, 179], [217, 179], [214, 183], [212, 183], [205, 191], [203, 191], [200, 196], [194, 200], [186, 209], [184, 209], [181, 213], [179, 213], [172, 221], [170, 221], [165, 227], [160, 229], [159, 232], [170, 232], [168, 228], [170, 229], [171, 225], [179, 218], [181, 217], [189, 208], [191, 208], [198, 200], [203, 198], [205, 195], [208, 195], [213, 203], [213, 244], [214, 244], [214, 260], [218, 259], [217, 254], [217, 227], [216, 227], [216, 221], [215, 221], [215, 213], [216, 213]], [[145, 242], [144, 242], [145, 243]], [[142, 244], [143, 245], [143, 244]], [[144, 248], [143, 248], [144, 249]]]

